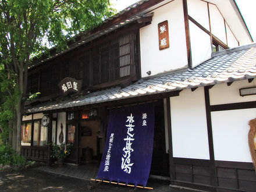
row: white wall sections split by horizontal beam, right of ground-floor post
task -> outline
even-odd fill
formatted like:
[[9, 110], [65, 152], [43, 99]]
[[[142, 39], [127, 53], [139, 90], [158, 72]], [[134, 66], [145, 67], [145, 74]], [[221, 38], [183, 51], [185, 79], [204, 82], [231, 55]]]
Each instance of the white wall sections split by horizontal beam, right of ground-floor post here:
[[[255, 79], [218, 84], [209, 90], [211, 105], [256, 101], [256, 95], [241, 97], [240, 88], [255, 87]], [[248, 122], [256, 118], [256, 108], [211, 112], [214, 155], [219, 161], [252, 162], [248, 147]]]

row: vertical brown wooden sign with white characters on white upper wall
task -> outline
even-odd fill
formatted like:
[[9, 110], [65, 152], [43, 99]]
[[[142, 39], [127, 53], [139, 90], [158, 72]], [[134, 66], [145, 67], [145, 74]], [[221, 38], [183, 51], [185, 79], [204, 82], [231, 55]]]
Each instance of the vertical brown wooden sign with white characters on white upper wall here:
[[168, 20], [158, 23], [159, 50], [169, 48]]

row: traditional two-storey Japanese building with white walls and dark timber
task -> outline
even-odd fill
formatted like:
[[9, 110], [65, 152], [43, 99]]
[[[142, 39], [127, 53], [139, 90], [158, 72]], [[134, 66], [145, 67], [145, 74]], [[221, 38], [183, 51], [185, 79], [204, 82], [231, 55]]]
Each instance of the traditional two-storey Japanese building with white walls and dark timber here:
[[234, 0], [139, 1], [30, 66], [27, 93], [40, 95], [26, 102], [22, 154], [50, 165], [45, 144], [69, 142], [66, 162], [99, 161], [109, 110], [153, 102], [151, 175], [196, 189], [255, 191], [251, 42]]

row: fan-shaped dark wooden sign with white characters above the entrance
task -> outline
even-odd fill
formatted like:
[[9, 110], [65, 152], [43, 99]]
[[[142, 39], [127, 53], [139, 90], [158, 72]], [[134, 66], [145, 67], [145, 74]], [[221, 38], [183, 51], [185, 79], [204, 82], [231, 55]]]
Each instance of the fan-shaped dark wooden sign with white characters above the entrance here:
[[79, 93], [82, 87], [82, 81], [66, 77], [58, 83], [58, 87], [63, 95], [66, 95], [69, 92]]

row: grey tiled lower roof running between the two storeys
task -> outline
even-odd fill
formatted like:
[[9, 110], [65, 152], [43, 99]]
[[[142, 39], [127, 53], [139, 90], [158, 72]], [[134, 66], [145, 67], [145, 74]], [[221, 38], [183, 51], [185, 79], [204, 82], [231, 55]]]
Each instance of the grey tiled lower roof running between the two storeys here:
[[256, 44], [227, 49], [193, 69], [182, 69], [138, 80], [125, 88], [112, 87], [63, 102], [49, 102], [26, 109], [27, 113], [98, 104], [119, 99], [167, 93], [256, 77]]

